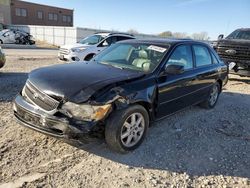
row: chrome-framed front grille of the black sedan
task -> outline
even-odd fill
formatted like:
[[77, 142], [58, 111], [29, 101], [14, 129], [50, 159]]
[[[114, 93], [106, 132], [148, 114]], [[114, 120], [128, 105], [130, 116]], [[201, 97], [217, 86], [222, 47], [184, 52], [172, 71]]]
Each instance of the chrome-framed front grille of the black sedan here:
[[39, 89], [37, 89], [29, 81], [27, 81], [27, 83], [24, 87], [24, 93], [30, 101], [32, 101], [34, 104], [36, 104], [37, 106], [39, 106], [40, 108], [42, 108], [46, 111], [55, 110], [60, 103], [59, 101], [55, 100], [54, 98], [41, 92]]

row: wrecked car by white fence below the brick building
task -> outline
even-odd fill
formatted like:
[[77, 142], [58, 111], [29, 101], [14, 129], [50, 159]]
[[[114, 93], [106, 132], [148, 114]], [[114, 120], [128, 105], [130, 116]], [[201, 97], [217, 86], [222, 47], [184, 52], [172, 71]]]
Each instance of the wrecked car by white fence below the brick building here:
[[35, 44], [33, 36], [24, 31], [4, 29], [0, 32], [0, 44]]

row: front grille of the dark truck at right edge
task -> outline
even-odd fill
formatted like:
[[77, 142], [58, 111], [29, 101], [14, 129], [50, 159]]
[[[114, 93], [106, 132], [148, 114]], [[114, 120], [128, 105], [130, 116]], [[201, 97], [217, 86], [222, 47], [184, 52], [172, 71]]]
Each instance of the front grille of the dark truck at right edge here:
[[[236, 54], [228, 54], [227, 50], [235, 50]], [[250, 61], [250, 47], [238, 44], [220, 44], [217, 53], [222, 59]]]

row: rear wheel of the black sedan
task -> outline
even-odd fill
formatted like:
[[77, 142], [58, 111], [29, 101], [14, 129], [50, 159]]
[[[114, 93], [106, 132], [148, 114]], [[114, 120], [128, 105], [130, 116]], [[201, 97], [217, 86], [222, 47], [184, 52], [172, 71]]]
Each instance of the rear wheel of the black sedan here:
[[207, 109], [215, 107], [218, 101], [219, 95], [220, 95], [220, 84], [216, 82], [213, 85], [213, 87], [210, 89], [208, 98], [205, 101], [203, 101], [200, 104], [200, 106], [207, 108]]

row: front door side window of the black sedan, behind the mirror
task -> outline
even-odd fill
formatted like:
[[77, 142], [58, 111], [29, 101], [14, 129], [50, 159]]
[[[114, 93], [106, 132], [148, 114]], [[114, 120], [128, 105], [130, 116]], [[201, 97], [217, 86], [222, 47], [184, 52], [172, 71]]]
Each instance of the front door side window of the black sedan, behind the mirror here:
[[184, 70], [193, 68], [192, 50], [189, 45], [178, 46], [170, 56], [166, 65], [183, 65]]

